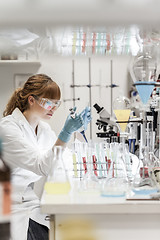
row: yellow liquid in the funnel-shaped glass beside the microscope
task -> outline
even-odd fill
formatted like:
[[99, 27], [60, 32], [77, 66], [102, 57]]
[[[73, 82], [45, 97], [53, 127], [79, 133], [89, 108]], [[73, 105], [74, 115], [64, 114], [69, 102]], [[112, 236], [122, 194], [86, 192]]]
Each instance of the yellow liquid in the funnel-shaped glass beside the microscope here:
[[[128, 121], [130, 113], [131, 113], [130, 109], [114, 110], [114, 114], [117, 118], [117, 121]], [[119, 126], [120, 126], [121, 131], [125, 132], [127, 123], [119, 123]]]

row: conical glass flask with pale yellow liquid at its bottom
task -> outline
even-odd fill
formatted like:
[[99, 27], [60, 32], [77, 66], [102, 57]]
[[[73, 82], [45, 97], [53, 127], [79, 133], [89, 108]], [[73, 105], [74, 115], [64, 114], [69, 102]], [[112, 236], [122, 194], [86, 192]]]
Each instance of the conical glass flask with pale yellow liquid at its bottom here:
[[62, 152], [63, 148], [61, 146], [54, 147], [53, 164], [44, 186], [48, 194], [68, 194], [71, 189]]

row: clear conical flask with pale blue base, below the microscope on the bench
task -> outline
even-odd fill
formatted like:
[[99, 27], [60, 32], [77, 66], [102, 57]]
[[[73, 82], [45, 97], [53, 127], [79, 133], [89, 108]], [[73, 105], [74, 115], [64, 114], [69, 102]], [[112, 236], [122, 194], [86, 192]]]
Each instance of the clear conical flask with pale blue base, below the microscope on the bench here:
[[101, 195], [103, 197], [125, 197], [128, 190], [128, 178], [122, 145], [111, 143], [110, 152], [111, 166], [107, 178], [102, 184]]

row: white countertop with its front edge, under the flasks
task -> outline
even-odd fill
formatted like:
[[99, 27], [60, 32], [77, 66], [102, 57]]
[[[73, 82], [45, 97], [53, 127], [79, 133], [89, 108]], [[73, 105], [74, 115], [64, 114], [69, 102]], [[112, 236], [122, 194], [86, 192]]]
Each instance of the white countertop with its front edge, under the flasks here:
[[45, 191], [41, 199], [41, 211], [45, 214], [160, 214], [160, 201], [126, 200], [101, 197], [98, 194], [70, 193], [49, 195]]

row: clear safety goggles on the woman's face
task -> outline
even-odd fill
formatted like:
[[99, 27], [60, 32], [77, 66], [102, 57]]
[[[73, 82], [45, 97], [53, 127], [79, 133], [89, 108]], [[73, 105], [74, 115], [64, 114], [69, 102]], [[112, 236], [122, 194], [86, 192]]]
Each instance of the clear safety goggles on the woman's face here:
[[39, 98], [38, 104], [46, 110], [51, 110], [52, 108], [58, 108], [61, 104], [60, 100], [49, 100], [48, 98]]

